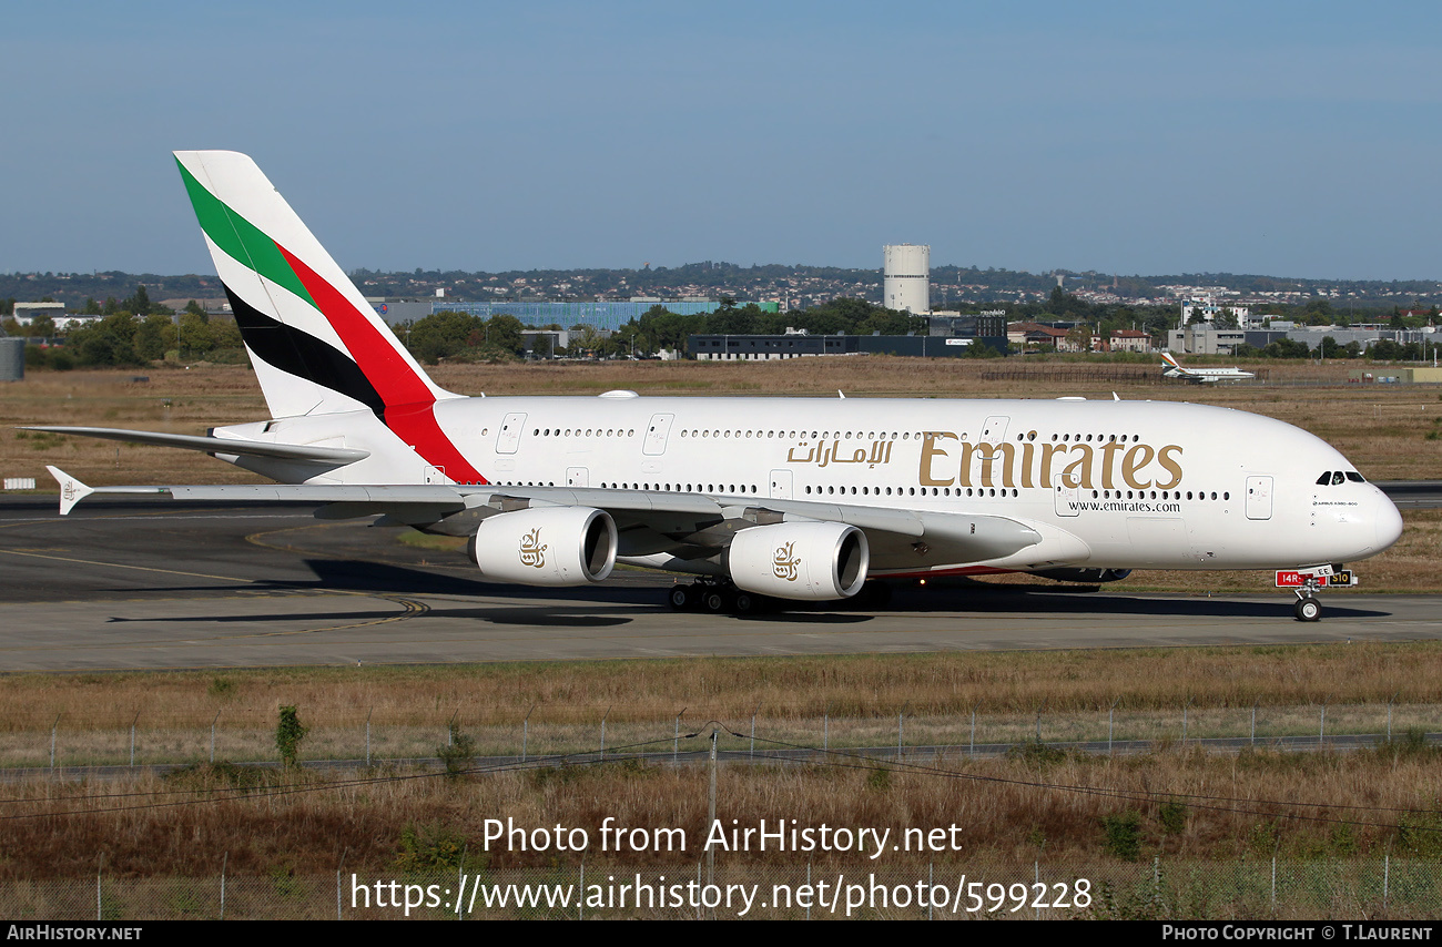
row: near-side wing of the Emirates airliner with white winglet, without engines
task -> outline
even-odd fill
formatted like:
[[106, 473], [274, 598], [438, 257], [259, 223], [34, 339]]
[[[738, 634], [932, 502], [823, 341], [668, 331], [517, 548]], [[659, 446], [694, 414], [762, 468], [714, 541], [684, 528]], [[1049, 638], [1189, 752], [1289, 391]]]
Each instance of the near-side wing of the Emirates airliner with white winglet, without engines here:
[[534, 507], [591, 507], [616, 522], [620, 556], [708, 559], [750, 526], [783, 522], [832, 522], [867, 533], [878, 571], [983, 562], [1037, 545], [1030, 525], [994, 515], [897, 510], [760, 496], [712, 496], [646, 490], [519, 486], [153, 486], [89, 487], [55, 467], [61, 513], [91, 494], [164, 494], [193, 502], [287, 502], [314, 504], [319, 519], [379, 516], [376, 525], [415, 526], [467, 536], [480, 520]]

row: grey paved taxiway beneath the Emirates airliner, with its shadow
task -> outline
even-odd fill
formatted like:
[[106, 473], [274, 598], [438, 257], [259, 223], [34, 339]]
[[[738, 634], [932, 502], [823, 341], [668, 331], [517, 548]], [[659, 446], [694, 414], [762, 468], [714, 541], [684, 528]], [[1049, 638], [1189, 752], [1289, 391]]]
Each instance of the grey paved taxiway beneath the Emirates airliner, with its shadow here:
[[875, 614], [822, 604], [754, 617], [671, 611], [671, 579], [617, 571], [538, 590], [476, 578], [457, 552], [414, 549], [309, 507], [117, 499], [68, 516], [0, 500], [0, 672], [397, 664], [695, 654], [820, 654], [1420, 640], [1442, 595], [1129, 594], [927, 587]]

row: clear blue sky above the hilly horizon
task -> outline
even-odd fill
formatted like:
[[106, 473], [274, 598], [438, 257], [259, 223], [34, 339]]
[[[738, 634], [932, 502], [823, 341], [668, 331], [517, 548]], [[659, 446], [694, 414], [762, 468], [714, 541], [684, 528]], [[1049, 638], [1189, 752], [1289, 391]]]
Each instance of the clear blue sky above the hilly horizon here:
[[350, 270], [701, 259], [1439, 278], [1442, 6], [52, 3], [0, 271], [209, 272], [169, 151]]

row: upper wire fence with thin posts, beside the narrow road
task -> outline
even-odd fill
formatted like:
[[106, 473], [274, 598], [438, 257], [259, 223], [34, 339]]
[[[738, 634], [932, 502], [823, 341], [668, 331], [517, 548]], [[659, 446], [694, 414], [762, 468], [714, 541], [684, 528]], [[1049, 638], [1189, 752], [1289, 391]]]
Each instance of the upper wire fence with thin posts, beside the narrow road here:
[[[551, 711], [557, 713], [557, 711]], [[695, 712], [665, 719], [637, 719], [624, 706], [597, 708], [594, 716], [567, 708], [564, 718], [548, 718], [536, 708], [467, 708], [421, 715], [317, 713], [300, 708], [307, 734], [300, 747], [304, 760], [384, 761], [435, 758], [456, 734], [464, 734], [476, 757], [538, 758], [600, 752], [607, 748], [647, 744], [663, 748], [673, 735], [702, 726]], [[577, 719], [587, 718], [591, 719]], [[1169, 709], [1094, 708], [982, 708], [972, 713], [897, 713], [819, 716], [770, 713], [748, 708], [708, 715], [730, 721], [720, 748], [727, 752], [757, 748], [751, 734], [767, 748], [782, 745], [815, 750], [894, 748], [898, 754], [996, 754], [1015, 744], [1069, 745], [1086, 752], [1129, 752], [1156, 745], [1208, 744], [1244, 747], [1347, 748], [1394, 739], [1406, 732], [1435, 732], [1442, 708], [1429, 703], [1340, 703], [1298, 706], [1194, 706]], [[0, 722], [0, 777], [6, 770], [65, 770], [108, 765], [166, 765], [216, 761], [274, 761], [274, 712], [222, 711], [200, 725], [193, 719], [166, 719], [154, 713], [104, 712], [12, 713]]]

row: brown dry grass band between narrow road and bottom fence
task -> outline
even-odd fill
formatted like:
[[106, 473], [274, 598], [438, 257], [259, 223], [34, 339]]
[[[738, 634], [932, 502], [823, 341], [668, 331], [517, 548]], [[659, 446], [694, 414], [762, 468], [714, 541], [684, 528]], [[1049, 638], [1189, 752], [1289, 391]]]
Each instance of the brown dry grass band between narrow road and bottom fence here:
[[[691, 741], [699, 750], [702, 739]], [[884, 761], [833, 758], [831, 764], [747, 765], [728, 763], [718, 780], [717, 816], [756, 826], [766, 819], [800, 826], [906, 829], [957, 826], [959, 850], [887, 852], [875, 865], [924, 866], [1012, 859], [1030, 863], [1112, 858], [1105, 816], [1141, 813], [1141, 858], [1229, 861], [1237, 858], [1435, 855], [1429, 833], [1397, 824], [1436, 826], [1436, 750], [1354, 754], [1244, 752], [1211, 757], [1162, 750], [1139, 757], [1025, 752], [1009, 758], [923, 760], [895, 768]], [[914, 768], [913, 768], [914, 767]], [[890, 770], [890, 771], [887, 771]], [[702, 765], [587, 764], [505, 771], [450, 781], [440, 777], [360, 781], [271, 771], [211, 771], [133, 781], [7, 784], [0, 878], [108, 875], [215, 875], [228, 853], [232, 873], [333, 871], [395, 872], [402, 832], [444, 827], [473, 863], [490, 868], [574, 863], [555, 852], [483, 853], [483, 820], [523, 829], [587, 829], [598, 840], [607, 816], [626, 827], [679, 827], [685, 852], [606, 853], [588, 865], [691, 865], [705, 839], [707, 771]], [[408, 773], [394, 775], [410, 775]], [[236, 781], [255, 783], [235, 794]], [[303, 791], [274, 793], [268, 786]], [[1097, 787], [1105, 793], [1063, 787]], [[195, 793], [199, 790], [199, 793]], [[198, 800], [193, 804], [167, 803]], [[1185, 806], [1168, 829], [1164, 801]], [[97, 812], [118, 810], [118, 812]], [[53, 814], [43, 814], [53, 813]], [[1419, 837], [1420, 836], [1420, 837]], [[597, 846], [598, 848], [598, 846]], [[725, 865], [865, 863], [848, 853], [720, 853]]]

